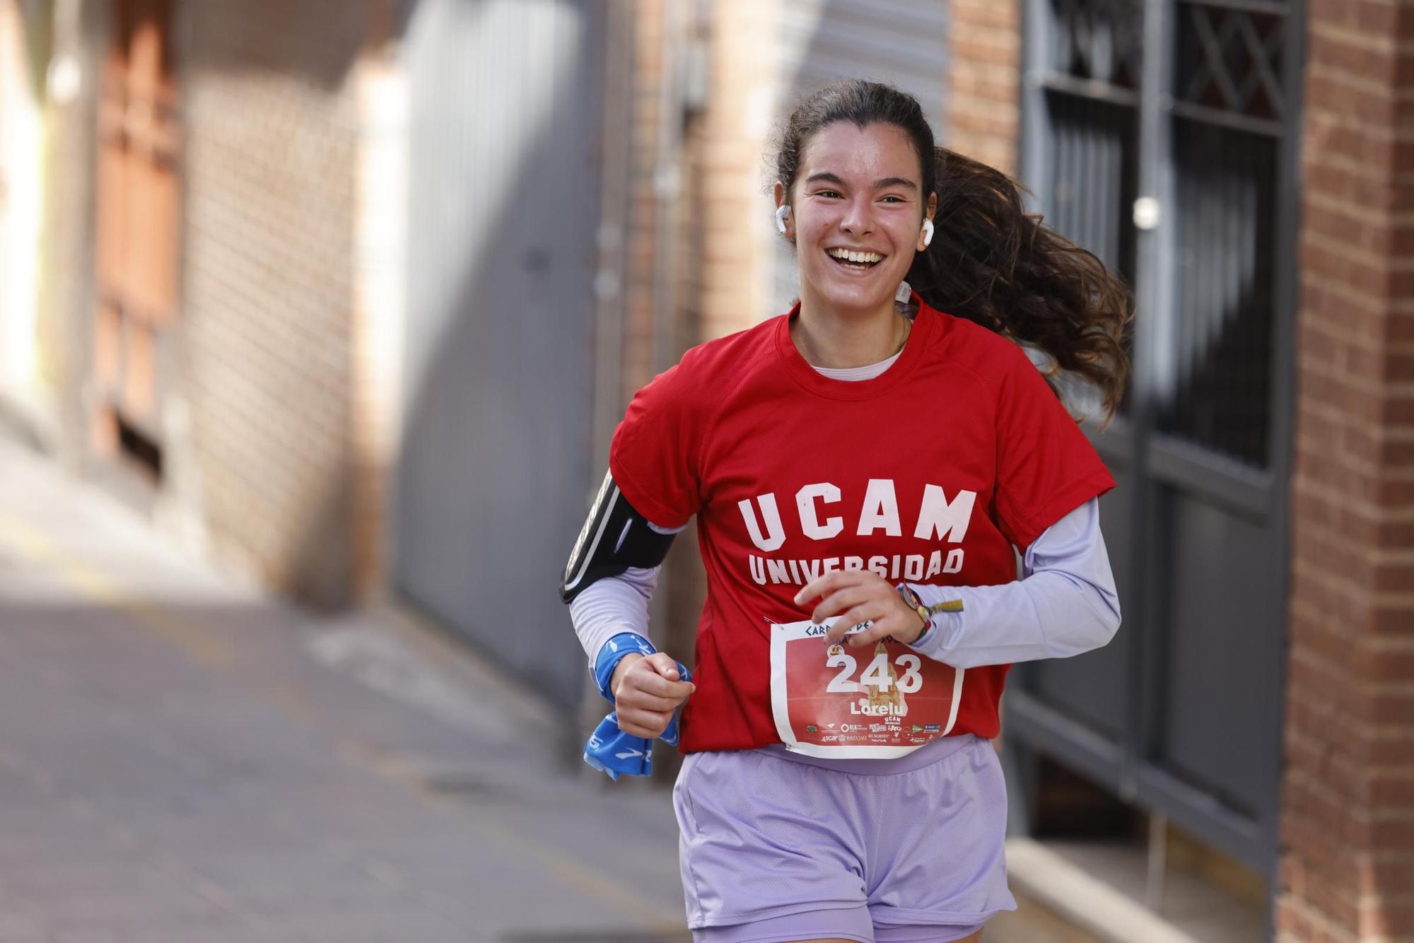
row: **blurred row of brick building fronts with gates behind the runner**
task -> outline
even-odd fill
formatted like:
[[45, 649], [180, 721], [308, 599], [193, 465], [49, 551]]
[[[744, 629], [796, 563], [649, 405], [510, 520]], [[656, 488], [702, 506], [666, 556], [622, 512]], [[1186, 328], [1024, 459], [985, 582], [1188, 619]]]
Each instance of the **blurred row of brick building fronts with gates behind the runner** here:
[[1138, 297], [1124, 628], [1012, 674], [1014, 830], [1159, 910], [1199, 872], [1234, 939], [1414, 939], [1410, 0], [0, 0], [0, 407], [573, 720], [553, 588], [614, 424], [789, 303], [772, 131], [840, 76]]

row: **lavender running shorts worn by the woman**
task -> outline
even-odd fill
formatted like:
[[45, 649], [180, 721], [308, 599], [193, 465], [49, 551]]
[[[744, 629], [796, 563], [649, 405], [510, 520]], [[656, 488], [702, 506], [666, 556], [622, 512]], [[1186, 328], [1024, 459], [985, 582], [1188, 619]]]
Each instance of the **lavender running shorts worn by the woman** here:
[[1017, 908], [1007, 787], [980, 737], [898, 759], [690, 754], [673, 807], [697, 943], [935, 943]]

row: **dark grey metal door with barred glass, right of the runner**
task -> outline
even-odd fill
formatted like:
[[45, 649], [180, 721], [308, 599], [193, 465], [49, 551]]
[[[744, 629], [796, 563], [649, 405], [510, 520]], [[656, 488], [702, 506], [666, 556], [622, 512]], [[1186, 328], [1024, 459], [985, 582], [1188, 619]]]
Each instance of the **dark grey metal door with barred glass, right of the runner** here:
[[1028, 0], [1025, 28], [1022, 178], [1135, 286], [1138, 317], [1121, 416], [1096, 437], [1124, 626], [1018, 666], [1011, 759], [1046, 754], [1270, 878], [1301, 7]]

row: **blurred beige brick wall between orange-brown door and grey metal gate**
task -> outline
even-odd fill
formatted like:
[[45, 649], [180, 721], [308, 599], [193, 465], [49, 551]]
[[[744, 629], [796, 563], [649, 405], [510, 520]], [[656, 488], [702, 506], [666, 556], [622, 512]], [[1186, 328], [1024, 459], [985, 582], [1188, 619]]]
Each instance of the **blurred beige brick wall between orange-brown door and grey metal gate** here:
[[192, 0], [177, 496], [214, 554], [315, 604], [352, 584], [362, 4]]

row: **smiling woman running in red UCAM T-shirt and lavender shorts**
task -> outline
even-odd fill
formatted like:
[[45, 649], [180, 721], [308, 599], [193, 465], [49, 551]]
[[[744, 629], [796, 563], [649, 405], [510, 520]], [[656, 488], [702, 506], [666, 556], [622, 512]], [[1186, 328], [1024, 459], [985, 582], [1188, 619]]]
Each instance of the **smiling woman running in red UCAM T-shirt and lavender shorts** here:
[[[561, 592], [625, 734], [683, 707], [696, 940], [977, 940], [1015, 908], [1007, 670], [1120, 622], [1114, 482], [1021, 345], [1113, 414], [1131, 295], [885, 85], [795, 109], [775, 202], [799, 303], [639, 390]], [[694, 515], [689, 680], [646, 636]]]

